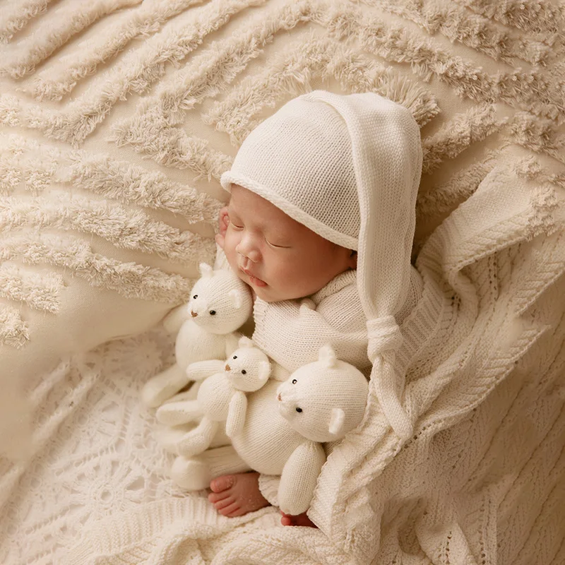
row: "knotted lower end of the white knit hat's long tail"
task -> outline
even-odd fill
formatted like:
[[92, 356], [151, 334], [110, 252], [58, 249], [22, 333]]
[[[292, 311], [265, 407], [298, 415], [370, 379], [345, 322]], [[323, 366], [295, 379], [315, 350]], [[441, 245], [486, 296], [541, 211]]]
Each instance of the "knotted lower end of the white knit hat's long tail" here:
[[390, 355], [402, 344], [402, 333], [394, 316], [383, 316], [367, 321], [367, 336], [367, 354], [373, 364], [371, 383], [376, 398], [394, 432], [408, 439], [412, 435], [412, 422], [400, 403], [405, 379], [394, 367], [395, 356]]

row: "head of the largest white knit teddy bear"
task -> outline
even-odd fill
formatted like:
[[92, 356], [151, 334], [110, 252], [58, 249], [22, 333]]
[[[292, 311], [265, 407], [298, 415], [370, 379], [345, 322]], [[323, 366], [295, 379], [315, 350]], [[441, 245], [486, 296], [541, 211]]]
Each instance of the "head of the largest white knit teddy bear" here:
[[359, 369], [339, 361], [330, 345], [277, 389], [280, 415], [300, 435], [320, 443], [343, 438], [361, 422], [369, 384]]

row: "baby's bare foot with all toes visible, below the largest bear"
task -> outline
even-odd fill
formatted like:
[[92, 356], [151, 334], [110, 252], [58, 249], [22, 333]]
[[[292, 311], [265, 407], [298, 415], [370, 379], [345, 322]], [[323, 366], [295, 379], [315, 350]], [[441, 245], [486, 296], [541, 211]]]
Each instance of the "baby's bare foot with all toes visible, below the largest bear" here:
[[243, 516], [248, 512], [268, 506], [268, 501], [259, 490], [258, 472], [242, 472], [224, 475], [210, 481], [212, 492], [208, 500], [223, 516]]

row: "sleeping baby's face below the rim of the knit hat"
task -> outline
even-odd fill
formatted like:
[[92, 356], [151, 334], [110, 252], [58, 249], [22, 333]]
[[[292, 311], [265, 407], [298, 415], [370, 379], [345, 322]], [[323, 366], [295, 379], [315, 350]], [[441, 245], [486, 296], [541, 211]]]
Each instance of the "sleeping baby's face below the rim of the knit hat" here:
[[266, 302], [313, 295], [357, 266], [350, 249], [324, 239], [237, 184], [232, 185], [229, 215], [227, 261]]

